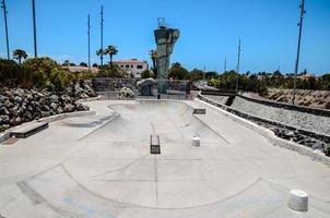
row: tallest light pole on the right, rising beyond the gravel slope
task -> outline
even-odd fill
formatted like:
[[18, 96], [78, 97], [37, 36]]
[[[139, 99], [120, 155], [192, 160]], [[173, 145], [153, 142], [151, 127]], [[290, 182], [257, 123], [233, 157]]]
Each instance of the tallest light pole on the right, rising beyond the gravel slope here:
[[299, 8], [300, 8], [300, 20], [299, 20], [299, 23], [298, 23], [298, 26], [299, 26], [298, 48], [297, 48], [297, 59], [296, 59], [296, 64], [295, 64], [295, 70], [294, 70], [292, 105], [295, 105], [295, 97], [296, 97], [297, 73], [298, 73], [298, 69], [299, 69], [299, 58], [300, 58], [303, 21], [304, 21], [304, 14], [306, 13], [306, 11], [305, 11], [305, 0], [302, 0], [302, 4], [299, 5]]

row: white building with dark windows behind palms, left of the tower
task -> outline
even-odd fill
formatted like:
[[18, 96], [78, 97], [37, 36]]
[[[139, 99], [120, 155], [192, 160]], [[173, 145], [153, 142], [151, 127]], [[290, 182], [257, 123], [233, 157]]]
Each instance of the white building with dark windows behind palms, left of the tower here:
[[141, 77], [141, 73], [145, 70], [149, 70], [149, 64], [146, 61], [140, 61], [138, 59], [128, 59], [128, 60], [116, 60], [114, 61], [122, 70], [132, 74], [134, 77]]

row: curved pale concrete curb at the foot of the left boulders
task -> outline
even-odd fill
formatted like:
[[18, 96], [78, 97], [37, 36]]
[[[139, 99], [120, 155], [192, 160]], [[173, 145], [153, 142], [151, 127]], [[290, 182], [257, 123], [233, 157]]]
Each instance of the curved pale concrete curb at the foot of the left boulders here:
[[22, 128], [22, 125], [27, 125], [28, 126], [28, 125], [31, 125], [33, 123], [36, 123], [36, 122], [50, 123], [50, 122], [55, 122], [55, 121], [58, 121], [58, 120], [63, 120], [63, 119], [67, 119], [67, 118], [87, 117], [87, 116], [95, 116], [95, 114], [96, 114], [95, 110], [86, 110], [86, 111], [75, 111], [75, 112], [69, 112], [69, 113], [60, 113], [60, 114], [50, 116], [50, 117], [47, 117], [47, 118], [42, 118], [39, 120], [33, 120], [31, 122], [13, 126], [13, 128], [4, 131], [3, 133], [0, 133], [0, 143], [3, 143], [4, 141], [10, 138], [11, 132]]

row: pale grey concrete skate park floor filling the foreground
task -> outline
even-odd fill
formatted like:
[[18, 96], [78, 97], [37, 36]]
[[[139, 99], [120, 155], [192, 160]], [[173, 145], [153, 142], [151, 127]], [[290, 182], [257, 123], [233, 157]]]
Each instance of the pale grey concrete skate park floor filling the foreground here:
[[[0, 146], [2, 217], [330, 215], [329, 166], [275, 146], [249, 121], [197, 99], [85, 104], [95, 114]], [[150, 153], [151, 135], [161, 154]], [[308, 193], [307, 211], [287, 207], [293, 189]]]

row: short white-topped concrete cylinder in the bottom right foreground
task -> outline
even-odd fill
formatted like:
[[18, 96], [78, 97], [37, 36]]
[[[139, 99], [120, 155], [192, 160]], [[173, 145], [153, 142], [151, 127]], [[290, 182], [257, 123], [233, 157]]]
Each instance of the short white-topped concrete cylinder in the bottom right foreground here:
[[302, 190], [291, 190], [287, 206], [296, 211], [307, 211], [308, 194]]

